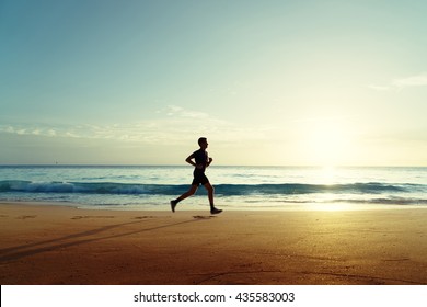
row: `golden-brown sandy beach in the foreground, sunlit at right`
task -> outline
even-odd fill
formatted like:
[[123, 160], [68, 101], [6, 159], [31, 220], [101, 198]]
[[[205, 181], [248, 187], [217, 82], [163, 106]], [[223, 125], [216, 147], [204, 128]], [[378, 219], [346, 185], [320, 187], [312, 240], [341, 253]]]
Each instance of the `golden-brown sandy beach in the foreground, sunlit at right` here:
[[8, 284], [427, 284], [427, 209], [88, 211], [0, 204]]

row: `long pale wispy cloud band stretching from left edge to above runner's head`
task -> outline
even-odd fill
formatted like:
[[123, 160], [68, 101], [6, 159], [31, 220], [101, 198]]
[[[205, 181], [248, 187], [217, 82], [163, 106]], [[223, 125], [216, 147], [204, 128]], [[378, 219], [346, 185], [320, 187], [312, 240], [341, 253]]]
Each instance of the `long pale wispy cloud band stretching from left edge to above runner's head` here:
[[263, 126], [241, 126], [232, 122], [209, 116], [207, 113], [187, 111], [176, 105], [169, 105], [159, 111], [158, 118], [141, 120], [126, 124], [9, 124], [0, 125], [0, 133], [27, 135], [34, 137], [93, 139], [125, 141], [146, 145], [180, 145], [193, 141], [201, 135], [221, 139], [224, 143], [258, 141], [270, 135], [270, 129]]

